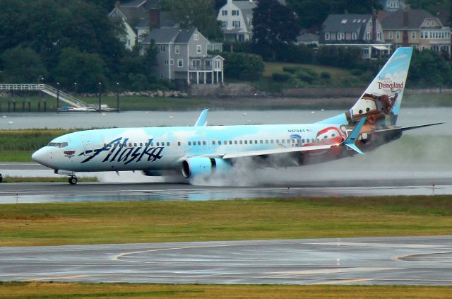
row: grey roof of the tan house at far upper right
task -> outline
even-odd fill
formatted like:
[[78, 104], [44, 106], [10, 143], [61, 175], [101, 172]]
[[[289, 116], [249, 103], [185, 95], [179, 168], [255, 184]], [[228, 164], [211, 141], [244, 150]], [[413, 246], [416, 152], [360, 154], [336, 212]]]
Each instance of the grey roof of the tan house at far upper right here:
[[[407, 29], [419, 29], [426, 18], [436, 18], [431, 13], [422, 9], [409, 9], [408, 11], [408, 26]], [[405, 28], [403, 25], [404, 11], [394, 11], [381, 20], [381, 27], [383, 29], [401, 29]]]

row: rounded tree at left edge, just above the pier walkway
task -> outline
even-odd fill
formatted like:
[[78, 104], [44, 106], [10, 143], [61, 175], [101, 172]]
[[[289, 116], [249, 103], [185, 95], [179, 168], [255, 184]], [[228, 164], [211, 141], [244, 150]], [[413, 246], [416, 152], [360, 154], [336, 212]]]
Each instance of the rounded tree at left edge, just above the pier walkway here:
[[1, 62], [6, 83], [37, 83], [39, 76], [47, 78], [40, 56], [30, 48], [8, 49], [1, 55]]

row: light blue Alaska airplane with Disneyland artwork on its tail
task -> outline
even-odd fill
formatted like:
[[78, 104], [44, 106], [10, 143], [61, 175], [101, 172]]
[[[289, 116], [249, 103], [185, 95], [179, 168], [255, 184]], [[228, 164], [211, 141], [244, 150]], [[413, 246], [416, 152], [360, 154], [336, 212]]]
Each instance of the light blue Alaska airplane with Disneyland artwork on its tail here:
[[244, 158], [261, 168], [363, 154], [399, 139], [403, 131], [441, 124], [396, 126], [411, 56], [410, 47], [396, 49], [350, 110], [313, 124], [208, 126], [208, 110], [203, 110], [194, 127], [65, 134], [33, 153], [32, 159], [77, 184], [76, 172], [133, 170], [148, 176], [176, 172], [191, 179], [228, 175]]

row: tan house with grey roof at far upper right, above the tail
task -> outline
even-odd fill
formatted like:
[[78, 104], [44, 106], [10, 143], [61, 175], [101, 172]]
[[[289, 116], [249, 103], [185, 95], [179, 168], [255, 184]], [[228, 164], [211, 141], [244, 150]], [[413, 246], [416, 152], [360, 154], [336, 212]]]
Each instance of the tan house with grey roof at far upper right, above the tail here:
[[395, 11], [381, 20], [385, 40], [396, 47], [432, 49], [451, 55], [451, 28], [422, 9]]

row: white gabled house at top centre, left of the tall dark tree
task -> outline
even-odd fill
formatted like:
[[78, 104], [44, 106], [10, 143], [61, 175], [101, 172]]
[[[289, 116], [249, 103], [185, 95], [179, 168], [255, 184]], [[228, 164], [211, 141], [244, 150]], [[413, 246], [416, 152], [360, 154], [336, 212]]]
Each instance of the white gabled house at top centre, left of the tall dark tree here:
[[[253, 36], [253, 9], [257, 1], [227, 0], [227, 3], [218, 11], [217, 20], [225, 35], [225, 40], [243, 42], [251, 40]], [[285, 0], [278, 0], [280, 4], [287, 5]]]

